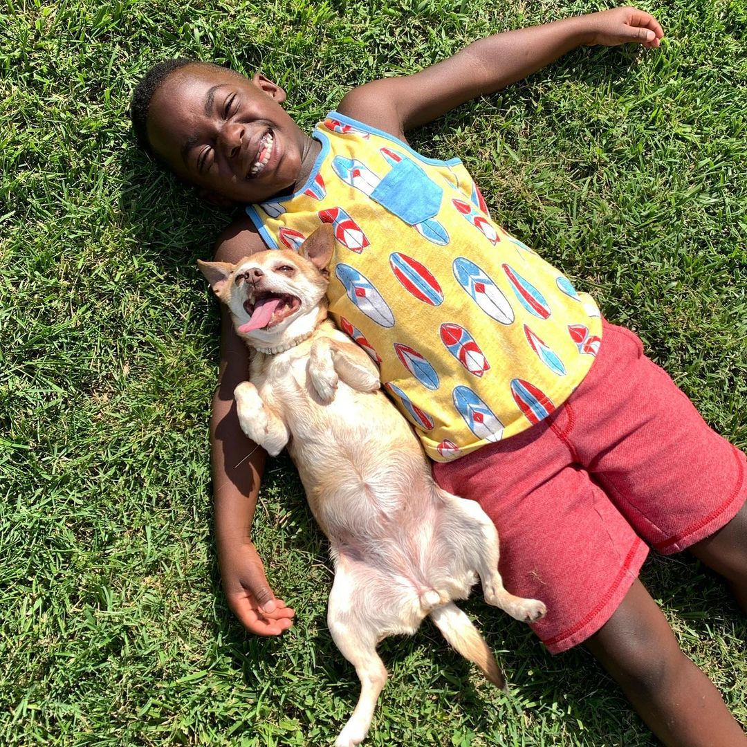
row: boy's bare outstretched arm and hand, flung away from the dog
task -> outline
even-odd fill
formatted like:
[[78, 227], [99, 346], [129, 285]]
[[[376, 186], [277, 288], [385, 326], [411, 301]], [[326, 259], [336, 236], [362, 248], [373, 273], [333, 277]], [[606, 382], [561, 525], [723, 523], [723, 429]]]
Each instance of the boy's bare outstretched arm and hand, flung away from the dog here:
[[526, 78], [578, 46], [637, 42], [657, 47], [663, 35], [654, 16], [633, 7], [506, 31], [480, 39], [415, 75], [382, 78], [355, 88], [339, 111], [403, 138], [407, 130]]

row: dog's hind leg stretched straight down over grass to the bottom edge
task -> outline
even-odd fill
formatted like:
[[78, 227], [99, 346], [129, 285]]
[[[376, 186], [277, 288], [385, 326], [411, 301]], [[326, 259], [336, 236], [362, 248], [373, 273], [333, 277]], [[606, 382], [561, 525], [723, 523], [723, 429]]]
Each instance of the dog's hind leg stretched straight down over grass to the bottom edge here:
[[365, 740], [373, 710], [387, 678], [384, 663], [376, 654], [379, 635], [356, 614], [353, 575], [338, 567], [329, 595], [327, 624], [343, 656], [356, 668], [361, 694], [353, 715], [340, 732], [335, 747], [353, 747]]

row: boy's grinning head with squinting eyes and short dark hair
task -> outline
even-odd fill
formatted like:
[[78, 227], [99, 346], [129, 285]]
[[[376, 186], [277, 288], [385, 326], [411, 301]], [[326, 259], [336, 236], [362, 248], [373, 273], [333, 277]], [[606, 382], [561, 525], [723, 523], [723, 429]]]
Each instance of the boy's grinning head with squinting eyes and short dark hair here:
[[156, 90], [148, 110], [153, 150], [206, 199], [262, 202], [300, 178], [309, 137], [280, 105], [282, 88], [255, 75], [187, 65]]

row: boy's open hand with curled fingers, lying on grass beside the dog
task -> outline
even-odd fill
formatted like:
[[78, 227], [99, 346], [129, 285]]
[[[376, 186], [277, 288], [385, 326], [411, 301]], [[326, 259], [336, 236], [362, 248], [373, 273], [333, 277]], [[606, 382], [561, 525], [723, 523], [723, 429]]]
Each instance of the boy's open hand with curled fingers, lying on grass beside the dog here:
[[294, 610], [273, 594], [252, 542], [223, 555], [220, 573], [229, 607], [250, 633], [279, 636], [291, 627]]

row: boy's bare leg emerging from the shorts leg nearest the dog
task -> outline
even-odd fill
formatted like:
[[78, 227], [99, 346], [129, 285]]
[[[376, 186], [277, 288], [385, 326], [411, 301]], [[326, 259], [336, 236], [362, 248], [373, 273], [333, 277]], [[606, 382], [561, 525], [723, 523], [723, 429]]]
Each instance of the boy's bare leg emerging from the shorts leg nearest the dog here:
[[713, 683], [680, 650], [669, 623], [636, 580], [586, 647], [651, 731], [672, 747], [747, 746]]

